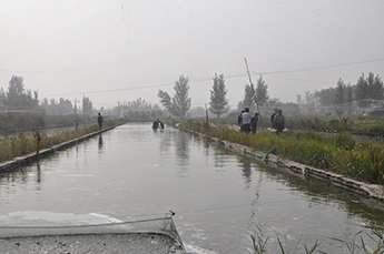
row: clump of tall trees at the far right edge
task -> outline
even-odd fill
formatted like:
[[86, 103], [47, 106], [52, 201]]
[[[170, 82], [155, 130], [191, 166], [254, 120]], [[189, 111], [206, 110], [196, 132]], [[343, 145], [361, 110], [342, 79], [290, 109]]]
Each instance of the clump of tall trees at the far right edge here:
[[363, 100], [382, 100], [383, 99], [383, 81], [378, 75], [370, 72], [368, 77], [364, 79], [364, 73], [358, 78], [355, 87], [355, 99], [361, 101], [361, 106], [370, 106]]

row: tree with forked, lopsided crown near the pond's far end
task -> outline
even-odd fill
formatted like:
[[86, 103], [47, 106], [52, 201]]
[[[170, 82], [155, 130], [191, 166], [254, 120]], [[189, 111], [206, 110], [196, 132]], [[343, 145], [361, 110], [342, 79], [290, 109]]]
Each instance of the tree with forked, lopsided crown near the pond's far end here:
[[160, 102], [166, 110], [175, 116], [185, 118], [186, 113], [190, 109], [190, 98], [188, 98], [188, 77], [181, 74], [175, 82], [175, 95], [171, 98], [167, 92], [159, 90], [157, 96], [160, 98]]

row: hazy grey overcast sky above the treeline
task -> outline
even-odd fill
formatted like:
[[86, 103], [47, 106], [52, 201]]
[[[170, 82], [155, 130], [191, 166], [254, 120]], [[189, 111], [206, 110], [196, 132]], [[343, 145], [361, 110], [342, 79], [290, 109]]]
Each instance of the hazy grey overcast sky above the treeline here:
[[189, 78], [193, 106], [224, 74], [236, 109], [248, 82], [296, 102], [305, 91], [384, 75], [383, 0], [0, 0], [0, 87], [93, 106], [159, 103]]

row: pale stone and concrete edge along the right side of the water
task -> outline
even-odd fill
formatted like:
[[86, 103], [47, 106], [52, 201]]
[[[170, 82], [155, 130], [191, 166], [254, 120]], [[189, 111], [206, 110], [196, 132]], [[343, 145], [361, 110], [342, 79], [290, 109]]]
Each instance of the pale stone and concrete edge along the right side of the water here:
[[[185, 130], [185, 129], [179, 129], [179, 130], [186, 131], [194, 135], [198, 135], [204, 140], [214, 142], [221, 148], [228, 149], [230, 151], [234, 151], [236, 153], [239, 153], [246, 156], [255, 158], [257, 160], [262, 160], [265, 156], [264, 152], [255, 151], [245, 145], [232, 143], [225, 140], [206, 135], [206, 134], [196, 133], [190, 130]], [[328, 172], [325, 170], [315, 169], [315, 167], [301, 164], [294, 161], [289, 161], [272, 153], [268, 155], [267, 160], [268, 160], [268, 163], [275, 163], [278, 166], [286, 167], [296, 174], [303, 174], [305, 176], [321, 179], [321, 180], [331, 182], [335, 185], [339, 185], [339, 186], [363, 193], [375, 200], [384, 202], [384, 186], [383, 185], [358, 182], [356, 180], [345, 177], [341, 174]]]

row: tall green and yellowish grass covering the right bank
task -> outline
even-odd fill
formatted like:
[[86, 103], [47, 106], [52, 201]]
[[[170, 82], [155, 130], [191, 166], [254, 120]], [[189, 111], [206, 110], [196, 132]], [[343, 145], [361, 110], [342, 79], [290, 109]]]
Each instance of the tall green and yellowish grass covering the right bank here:
[[[176, 123], [175, 121], [173, 123]], [[173, 124], [170, 123], [170, 124]], [[257, 151], [273, 153], [318, 169], [337, 172], [367, 183], [384, 184], [384, 144], [348, 133], [286, 132], [277, 136], [269, 131], [255, 135], [226, 125], [179, 121], [179, 126], [205, 133]]]

